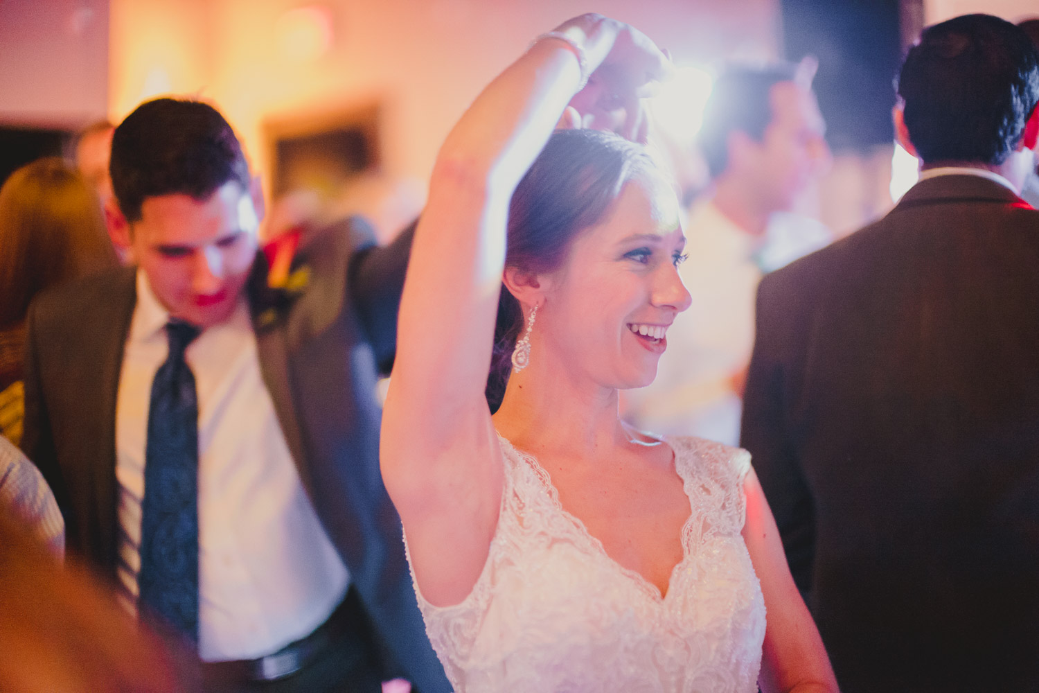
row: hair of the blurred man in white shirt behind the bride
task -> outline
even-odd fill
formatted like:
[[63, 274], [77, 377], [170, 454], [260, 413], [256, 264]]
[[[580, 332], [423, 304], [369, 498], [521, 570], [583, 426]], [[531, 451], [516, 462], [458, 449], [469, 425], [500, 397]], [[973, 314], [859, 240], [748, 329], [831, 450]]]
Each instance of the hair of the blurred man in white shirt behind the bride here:
[[773, 116], [772, 87], [793, 82], [796, 73], [797, 68], [785, 62], [763, 68], [739, 65], [715, 80], [699, 133], [700, 151], [711, 178], [717, 178], [728, 166], [728, 136], [732, 132], [762, 141]]

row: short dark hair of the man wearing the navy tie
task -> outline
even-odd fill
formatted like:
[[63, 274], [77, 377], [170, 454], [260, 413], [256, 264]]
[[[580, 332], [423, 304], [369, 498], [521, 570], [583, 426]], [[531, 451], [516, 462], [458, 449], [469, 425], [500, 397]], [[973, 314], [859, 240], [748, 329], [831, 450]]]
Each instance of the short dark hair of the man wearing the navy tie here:
[[128, 221], [148, 197], [186, 194], [204, 201], [230, 181], [249, 189], [249, 169], [234, 130], [198, 101], [156, 99], [134, 110], [112, 135], [112, 190]]

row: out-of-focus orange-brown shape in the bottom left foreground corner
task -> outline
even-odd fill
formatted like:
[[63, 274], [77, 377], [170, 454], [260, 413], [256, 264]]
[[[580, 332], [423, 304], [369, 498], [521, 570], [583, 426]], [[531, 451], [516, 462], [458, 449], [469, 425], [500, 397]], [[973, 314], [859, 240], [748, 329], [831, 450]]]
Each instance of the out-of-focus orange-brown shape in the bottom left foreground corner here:
[[[0, 690], [194, 690], [156, 638], [75, 564], [64, 569], [0, 502]], [[181, 678], [180, 676], [183, 676]]]

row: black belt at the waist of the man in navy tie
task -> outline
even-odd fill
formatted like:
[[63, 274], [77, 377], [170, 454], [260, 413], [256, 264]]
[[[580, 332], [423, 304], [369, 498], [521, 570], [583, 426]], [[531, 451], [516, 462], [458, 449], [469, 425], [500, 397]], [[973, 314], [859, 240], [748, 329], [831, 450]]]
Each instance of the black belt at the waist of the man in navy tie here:
[[334, 645], [349, 646], [351, 639], [356, 639], [358, 645], [364, 644], [357, 628], [359, 617], [359, 601], [356, 590], [351, 587], [328, 619], [310, 635], [290, 642], [276, 652], [255, 660], [203, 662], [203, 679], [222, 683], [285, 678], [313, 664]]

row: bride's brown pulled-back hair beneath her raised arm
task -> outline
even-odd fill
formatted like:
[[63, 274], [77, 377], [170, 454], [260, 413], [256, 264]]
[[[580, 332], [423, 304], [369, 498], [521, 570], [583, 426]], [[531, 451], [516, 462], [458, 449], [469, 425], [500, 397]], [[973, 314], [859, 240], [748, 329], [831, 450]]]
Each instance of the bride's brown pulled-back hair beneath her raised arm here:
[[[606, 217], [624, 184], [657, 170], [643, 146], [617, 135], [555, 132], [512, 195], [505, 266], [533, 273], [559, 269], [574, 240]], [[502, 287], [486, 389], [491, 411], [505, 395], [523, 326], [520, 302]]]

